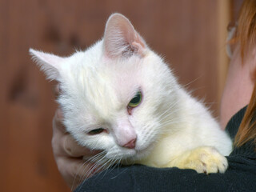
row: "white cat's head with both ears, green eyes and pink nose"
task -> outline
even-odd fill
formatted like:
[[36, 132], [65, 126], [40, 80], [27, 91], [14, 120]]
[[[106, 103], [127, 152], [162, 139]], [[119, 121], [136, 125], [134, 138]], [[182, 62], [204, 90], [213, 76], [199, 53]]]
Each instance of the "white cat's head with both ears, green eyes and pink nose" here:
[[30, 54], [60, 83], [66, 129], [81, 145], [104, 150], [109, 159], [148, 154], [164, 131], [177, 85], [126, 17], [112, 14], [102, 40], [86, 51], [66, 58]]

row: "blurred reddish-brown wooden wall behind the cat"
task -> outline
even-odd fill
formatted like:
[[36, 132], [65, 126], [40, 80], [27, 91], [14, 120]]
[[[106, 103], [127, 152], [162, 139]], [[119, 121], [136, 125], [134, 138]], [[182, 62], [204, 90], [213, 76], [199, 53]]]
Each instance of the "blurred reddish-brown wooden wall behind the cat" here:
[[[0, 0], [0, 191], [70, 191], [51, 149], [54, 82], [30, 47], [62, 56], [102, 38], [111, 13], [125, 14], [179, 82], [218, 118], [226, 26], [242, 0]], [[157, 75], [157, 74], [156, 74]]]

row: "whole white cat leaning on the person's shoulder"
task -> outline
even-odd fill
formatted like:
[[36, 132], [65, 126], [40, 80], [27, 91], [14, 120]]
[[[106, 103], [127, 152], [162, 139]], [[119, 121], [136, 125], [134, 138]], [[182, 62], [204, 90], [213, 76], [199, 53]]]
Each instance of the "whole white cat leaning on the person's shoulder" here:
[[103, 150], [94, 161], [225, 172], [230, 138], [122, 14], [110, 16], [102, 40], [86, 51], [30, 54], [60, 82], [66, 130]]

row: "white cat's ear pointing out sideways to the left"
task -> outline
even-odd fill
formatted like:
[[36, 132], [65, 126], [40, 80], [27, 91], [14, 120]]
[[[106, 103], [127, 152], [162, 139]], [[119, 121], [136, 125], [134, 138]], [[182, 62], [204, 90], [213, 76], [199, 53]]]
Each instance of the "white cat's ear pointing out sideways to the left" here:
[[40, 66], [40, 69], [46, 74], [47, 79], [59, 81], [60, 63], [63, 62], [64, 58], [33, 49], [30, 49], [30, 54], [33, 60]]

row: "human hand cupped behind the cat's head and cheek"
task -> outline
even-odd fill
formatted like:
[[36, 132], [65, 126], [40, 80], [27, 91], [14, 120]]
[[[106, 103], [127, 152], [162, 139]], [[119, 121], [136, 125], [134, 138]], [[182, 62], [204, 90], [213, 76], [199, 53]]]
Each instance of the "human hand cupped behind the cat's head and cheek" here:
[[[58, 86], [55, 88], [55, 93], [59, 93]], [[62, 119], [62, 110], [56, 110], [53, 119], [52, 147], [55, 162], [59, 172], [62, 174], [62, 178], [70, 186], [70, 189], [74, 190], [83, 179], [89, 178], [97, 172], [95, 171], [97, 169], [95, 169], [94, 163], [86, 162], [83, 157], [91, 158], [98, 154], [98, 151], [79, 146], [74, 138], [66, 132]]]

